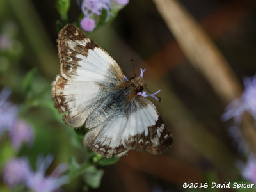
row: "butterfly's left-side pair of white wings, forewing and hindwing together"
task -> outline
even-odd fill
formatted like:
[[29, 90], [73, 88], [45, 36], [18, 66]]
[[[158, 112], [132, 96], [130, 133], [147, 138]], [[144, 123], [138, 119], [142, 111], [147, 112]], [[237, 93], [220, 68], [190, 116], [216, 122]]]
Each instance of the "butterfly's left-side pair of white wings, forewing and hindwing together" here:
[[118, 64], [83, 31], [67, 24], [58, 36], [61, 74], [52, 83], [52, 99], [70, 127], [81, 127], [106, 97], [124, 81]]

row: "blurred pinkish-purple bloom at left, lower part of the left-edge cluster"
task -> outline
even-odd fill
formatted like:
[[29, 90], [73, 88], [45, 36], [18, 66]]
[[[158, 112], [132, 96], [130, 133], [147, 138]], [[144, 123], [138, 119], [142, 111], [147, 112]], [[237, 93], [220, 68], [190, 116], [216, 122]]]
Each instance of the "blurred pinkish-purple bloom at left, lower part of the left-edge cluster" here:
[[15, 124], [10, 130], [10, 138], [14, 148], [19, 149], [22, 143], [33, 143], [34, 134], [33, 129], [23, 120], [15, 120]]

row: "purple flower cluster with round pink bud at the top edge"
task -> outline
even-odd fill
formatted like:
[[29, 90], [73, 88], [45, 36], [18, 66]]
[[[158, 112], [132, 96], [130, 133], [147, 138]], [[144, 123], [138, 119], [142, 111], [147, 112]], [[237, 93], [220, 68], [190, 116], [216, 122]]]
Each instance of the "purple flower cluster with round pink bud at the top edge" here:
[[93, 31], [96, 26], [95, 19], [97, 16], [102, 15], [103, 10], [106, 10], [106, 22], [111, 16], [111, 10], [122, 8], [128, 4], [129, 0], [82, 0], [79, 1], [84, 18], [81, 20], [80, 25], [84, 31]]

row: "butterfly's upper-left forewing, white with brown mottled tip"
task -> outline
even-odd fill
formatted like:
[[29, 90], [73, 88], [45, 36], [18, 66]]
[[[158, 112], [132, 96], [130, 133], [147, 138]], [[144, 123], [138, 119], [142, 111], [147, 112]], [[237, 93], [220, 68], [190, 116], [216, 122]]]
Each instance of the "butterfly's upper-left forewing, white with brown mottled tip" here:
[[81, 81], [124, 81], [124, 74], [116, 61], [83, 31], [67, 24], [58, 36], [63, 76]]

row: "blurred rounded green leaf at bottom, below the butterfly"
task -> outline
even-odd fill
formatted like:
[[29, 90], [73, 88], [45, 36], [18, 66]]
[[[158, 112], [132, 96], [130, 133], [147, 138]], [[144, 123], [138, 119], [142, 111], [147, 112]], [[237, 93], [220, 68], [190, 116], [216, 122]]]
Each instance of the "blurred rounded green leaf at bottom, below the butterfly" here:
[[95, 166], [90, 166], [84, 172], [84, 182], [91, 188], [99, 188], [104, 170], [98, 170]]

